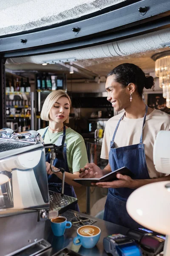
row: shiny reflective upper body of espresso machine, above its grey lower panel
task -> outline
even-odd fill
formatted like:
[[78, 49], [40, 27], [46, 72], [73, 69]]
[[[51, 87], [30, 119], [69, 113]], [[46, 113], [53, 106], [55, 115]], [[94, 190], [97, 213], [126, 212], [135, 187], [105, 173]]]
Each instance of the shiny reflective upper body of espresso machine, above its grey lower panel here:
[[24, 134], [29, 134], [26, 141], [18, 140], [18, 134], [9, 135], [12, 139], [0, 138], [0, 172], [9, 178], [0, 186], [5, 203], [0, 217], [8, 208], [49, 207], [44, 146], [36, 131]]

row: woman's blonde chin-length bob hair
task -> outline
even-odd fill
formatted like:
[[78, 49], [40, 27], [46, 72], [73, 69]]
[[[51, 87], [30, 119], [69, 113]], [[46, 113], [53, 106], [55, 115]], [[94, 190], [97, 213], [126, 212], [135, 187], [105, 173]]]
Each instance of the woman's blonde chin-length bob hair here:
[[[42, 106], [42, 110], [41, 110], [41, 119], [45, 120], [45, 121], [50, 121], [50, 111], [51, 108], [54, 106], [55, 102], [57, 102], [57, 100], [60, 97], [66, 97], [70, 103], [70, 107], [71, 107], [71, 99], [68, 96], [67, 93], [65, 93], [64, 90], [56, 90], [53, 91], [52, 93], [48, 94], [47, 98], [45, 99], [45, 102]], [[69, 116], [68, 118], [65, 120], [65, 123], [69, 122]]]

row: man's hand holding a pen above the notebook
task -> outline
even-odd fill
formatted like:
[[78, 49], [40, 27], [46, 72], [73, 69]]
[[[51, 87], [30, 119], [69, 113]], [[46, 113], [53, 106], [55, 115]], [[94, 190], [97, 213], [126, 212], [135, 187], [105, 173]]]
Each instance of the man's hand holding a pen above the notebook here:
[[[86, 170], [83, 171], [84, 169]], [[94, 163], [87, 163], [84, 168], [79, 170], [79, 172], [80, 178], [99, 178], [103, 176], [102, 170]]]

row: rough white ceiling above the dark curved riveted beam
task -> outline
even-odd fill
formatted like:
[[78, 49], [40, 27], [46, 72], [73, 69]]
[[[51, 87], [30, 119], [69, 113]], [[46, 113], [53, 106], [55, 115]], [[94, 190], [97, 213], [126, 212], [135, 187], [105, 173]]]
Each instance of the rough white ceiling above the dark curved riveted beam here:
[[125, 0], [0, 0], [0, 35], [88, 15]]

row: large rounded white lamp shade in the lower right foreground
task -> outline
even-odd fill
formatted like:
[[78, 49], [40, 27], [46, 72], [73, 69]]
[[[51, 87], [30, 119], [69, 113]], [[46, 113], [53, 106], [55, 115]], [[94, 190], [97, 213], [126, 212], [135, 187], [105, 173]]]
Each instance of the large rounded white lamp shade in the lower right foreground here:
[[136, 189], [127, 199], [127, 212], [139, 224], [170, 235], [170, 181], [150, 183]]

